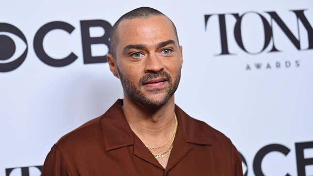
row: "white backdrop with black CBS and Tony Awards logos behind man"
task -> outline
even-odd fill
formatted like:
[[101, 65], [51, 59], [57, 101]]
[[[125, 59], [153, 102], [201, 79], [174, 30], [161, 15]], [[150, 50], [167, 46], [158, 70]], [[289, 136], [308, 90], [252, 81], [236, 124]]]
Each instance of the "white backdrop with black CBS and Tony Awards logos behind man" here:
[[313, 176], [312, 0], [1, 1], [0, 176], [39, 176], [60, 137], [122, 98], [109, 33], [140, 6], [176, 24], [176, 103], [231, 138], [245, 176]]

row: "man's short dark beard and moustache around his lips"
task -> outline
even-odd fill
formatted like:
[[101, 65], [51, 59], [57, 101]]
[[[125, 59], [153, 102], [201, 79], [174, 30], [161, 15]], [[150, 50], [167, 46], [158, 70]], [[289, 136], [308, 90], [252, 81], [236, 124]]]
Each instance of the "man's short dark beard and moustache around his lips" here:
[[[142, 105], [149, 107], [149, 108], [153, 108], [153, 109], [160, 108], [168, 102], [168, 100], [174, 95], [175, 91], [177, 90], [178, 84], [181, 80], [181, 67], [178, 70], [179, 74], [175, 78], [174, 82], [173, 82], [172, 78], [170, 77], [170, 75], [162, 69], [158, 72], [155, 72], [155, 73], [150, 72], [150, 73], [147, 73], [146, 75], [144, 75], [139, 80], [139, 83], [137, 86], [132, 84], [129, 77], [123, 75], [118, 67], [117, 67], [117, 71], [119, 74], [119, 79], [121, 81], [122, 87], [124, 89], [124, 92], [127, 94], [127, 96], [129, 96], [132, 100], [135, 100], [135, 101], [141, 103]], [[166, 88], [167, 91], [166, 91], [165, 97], [163, 97], [160, 100], [149, 98], [143, 92], [141, 92], [139, 89], [139, 87], [144, 86], [144, 83], [146, 81], [151, 80], [151, 79], [157, 79], [157, 78], [165, 78], [169, 84], [169, 87]], [[160, 91], [163, 91], [163, 89], [154, 89], [154, 90], [149, 91], [149, 92], [152, 94], [156, 94], [156, 93], [159, 93]]]

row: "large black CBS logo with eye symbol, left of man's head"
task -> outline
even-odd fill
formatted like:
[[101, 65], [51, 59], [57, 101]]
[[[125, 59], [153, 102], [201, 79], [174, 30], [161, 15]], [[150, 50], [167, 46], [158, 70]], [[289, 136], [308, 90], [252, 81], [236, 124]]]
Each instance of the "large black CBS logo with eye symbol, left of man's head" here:
[[[105, 20], [81, 20], [81, 37], [82, 37], [82, 54], [84, 64], [106, 63], [106, 54], [102, 53], [100, 56], [93, 56], [91, 46], [94, 44], [102, 44], [109, 48], [109, 38], [112, 25]], [[101, 28], [104, 32], [100, 36], [91, 36], [90, 28]], [[48, 32], [52, 30], [62, 30], [71, 34], [75, 27], [63, 21], [49, 22], [35, 33], [33, 39], [33, 49], [36, 56], [43, 63], [54, 66], [62, 67], [73, 63], [78, 56], [74, 52], [70, 52], [66, 57], [53, 58], [49, 56], [44, 50], [43, 40]], [[18, 39], [21, 42], [17, 42]], [[15, 39], [15, 40], [13, 40]], [[24, 43], [26, 46], [21, 50], [16, 43]], [[0, 72], [9, 72], [19, 67], [26, 59], [28, 52], [28, 43], [25, 35], [15, 26], [8, 23], [0, 23]], [[20, 55], [18, 53], [21, 53]], [[19, 56], [16, 56], [19, 55]], [[16, 58], [17, 57], [17, 58]], [[14, 59], [16, 58], [16, 59]]]

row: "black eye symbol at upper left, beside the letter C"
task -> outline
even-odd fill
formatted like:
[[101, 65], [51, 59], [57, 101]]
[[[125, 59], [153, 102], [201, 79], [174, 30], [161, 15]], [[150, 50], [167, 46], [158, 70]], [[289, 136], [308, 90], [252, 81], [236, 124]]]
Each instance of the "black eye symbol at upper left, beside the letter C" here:
[[[16, 55], [16, 42], [12, 38], [17, 38], [16, 36], [26, 44], [26, 48], [17, 59], [12, 59]], [[12, 71], [23, 64], [27, 51], [28, 45], [25, 35], [11, 24], [0, 23], [0, 72]]]

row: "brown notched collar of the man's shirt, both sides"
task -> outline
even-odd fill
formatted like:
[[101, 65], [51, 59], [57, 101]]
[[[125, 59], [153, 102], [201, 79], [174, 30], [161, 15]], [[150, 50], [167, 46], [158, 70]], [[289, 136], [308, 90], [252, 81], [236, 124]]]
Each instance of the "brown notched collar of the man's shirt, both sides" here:
[[[122, 110], [123, 99], [118, 99], [107, 112], [100, 117], [104, 137], [105, 151], [134, 145], [135, 134], [132, 132]], [[183, 143], [212, 145], [216, 137], [213, 128], [206, 123], [190, 117], [175, 105], [178, 130], [181, 131]], [[212, 132], [210, 132], [212, 131]]]

